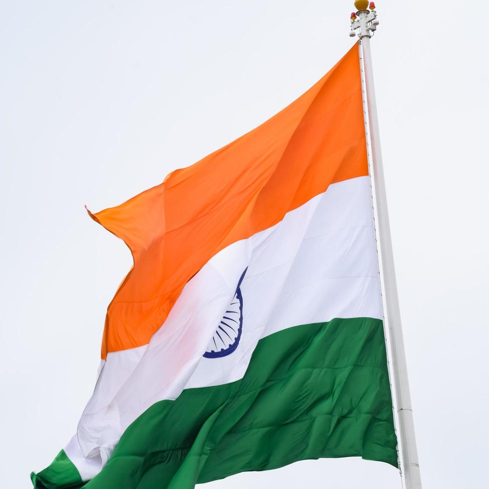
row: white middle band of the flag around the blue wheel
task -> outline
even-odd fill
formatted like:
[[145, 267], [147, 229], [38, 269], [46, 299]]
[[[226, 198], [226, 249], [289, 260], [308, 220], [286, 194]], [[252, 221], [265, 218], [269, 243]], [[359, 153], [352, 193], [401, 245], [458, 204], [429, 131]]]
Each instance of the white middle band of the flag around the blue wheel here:
[[[370, 192], [369, 177], [333, 184], [276, 226], [216, 254], [147, 347], [107, 356], [79, 423], [81, 451], [101, 452], [104, 463], [155, 402], [242, 378], [257, 341], [269, 334], [335, 317], [382, 318]], [[205, 358], [246, 267], [240, 343], [228, 356]]]

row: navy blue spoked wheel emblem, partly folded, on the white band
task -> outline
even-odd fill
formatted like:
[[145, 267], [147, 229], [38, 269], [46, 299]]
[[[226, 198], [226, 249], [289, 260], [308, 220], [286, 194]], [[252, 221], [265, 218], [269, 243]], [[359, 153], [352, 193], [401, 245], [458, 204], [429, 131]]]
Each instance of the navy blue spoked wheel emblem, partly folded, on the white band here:
[[224, 313], [221, 322], [214, 332], [204, 356], [206, 358], [221, 358], [233, 353], [238, 347], [243, 330], [243, 295], [241, 282], [245, 278], [247, 268], [241, 275], [235, 296]]

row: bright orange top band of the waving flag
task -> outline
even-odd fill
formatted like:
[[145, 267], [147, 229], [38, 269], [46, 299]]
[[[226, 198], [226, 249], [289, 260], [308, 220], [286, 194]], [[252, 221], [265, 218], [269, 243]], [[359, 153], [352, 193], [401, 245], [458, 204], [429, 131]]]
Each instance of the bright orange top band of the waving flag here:
[[357, 44], [265, 123], [124, 204], [90, 214], [134, 265], [110, 303], [102, 358], [145, 345], [187, 281], [331, 183], [368, 175]]

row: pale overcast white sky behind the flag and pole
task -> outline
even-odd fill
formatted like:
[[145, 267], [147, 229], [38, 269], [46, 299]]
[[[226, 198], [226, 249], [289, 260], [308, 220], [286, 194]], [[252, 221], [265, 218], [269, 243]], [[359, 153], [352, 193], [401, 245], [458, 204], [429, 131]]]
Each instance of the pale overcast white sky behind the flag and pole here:
[[[129, 251], [92, 211], [252, 129], [350, 48], [349, 1], [0, 1], [1, 487], [74, 433]], [[447, 3], [445, 3], [447, 4]], [[372, 40], [425, 488], [488, 488], [489, 158], [482, 1], [379, 0]], [[211, 489], [400, 487], [359, 459]]]

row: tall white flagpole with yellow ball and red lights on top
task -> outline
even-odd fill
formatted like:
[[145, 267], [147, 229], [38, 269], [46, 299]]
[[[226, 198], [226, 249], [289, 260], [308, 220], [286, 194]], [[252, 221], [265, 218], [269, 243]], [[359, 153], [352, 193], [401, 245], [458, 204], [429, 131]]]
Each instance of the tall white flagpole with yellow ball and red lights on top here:
[[[368, 10], [370, 6], [370, 11]], [[357, 12], [351, 15], [350, 36], [358, 35], [363, 52], [363, 69], [365, 73], [365, 91], [368, 107], [368, 126], [370, 135], [371, 158], [375, 188], [376, 214], [380, 254], [384, 285], [385, 308], [387, 312], [388, 336], [390, 342], [390, 358], [394, 377], [396, 395], [397, 421], [401, 444], [401, 474], [406, 489], [421, 489], [421, 475], [418, 461], [418, 450], [414, 431], [413, 407], [409, 391], [406, 353], [401, 325], [401, 312], [397, 293], [394, 254], [392, 251], [387, 195], [385, 189], [382, 152], [380, 148], [379, 122], [372, 71], [372, 55], [370, 38], [375, 33], [377, 13], [375, 4], [368, 0], [355, 1]], [[363, 80], [362, 80], [363, 82]], [[367, 123], [367, 121], [366, 121]]]

